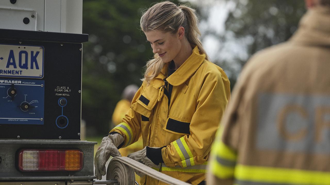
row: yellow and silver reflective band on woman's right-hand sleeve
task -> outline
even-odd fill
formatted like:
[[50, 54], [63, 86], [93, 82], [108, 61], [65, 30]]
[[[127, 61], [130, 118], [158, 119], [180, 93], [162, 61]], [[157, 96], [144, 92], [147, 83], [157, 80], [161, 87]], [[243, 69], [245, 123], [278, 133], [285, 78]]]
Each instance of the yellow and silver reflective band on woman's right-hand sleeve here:
[[173, 145], [182, 160], [181, 162], [182, 162], [183, 167], [195, 165], [193, 155], [192, 155], [187, 143], [184, 141], [183, 137], [175, 140], [173, 142]]

